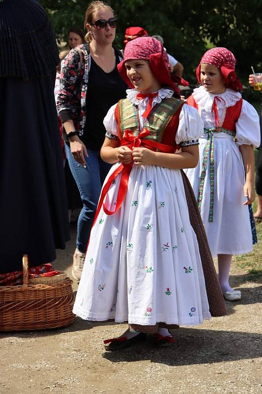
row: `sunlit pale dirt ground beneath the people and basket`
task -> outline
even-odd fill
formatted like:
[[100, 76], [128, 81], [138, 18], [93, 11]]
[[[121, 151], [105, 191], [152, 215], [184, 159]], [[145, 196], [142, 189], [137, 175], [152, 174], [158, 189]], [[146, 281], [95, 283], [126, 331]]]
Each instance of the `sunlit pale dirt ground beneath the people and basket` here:
[[[75, 228], [57, 269], [70, 275]], [[66, 328], [0, 333], [0, 394], [259, 394], [262, 393], [262, 281], [249, 281], [233, 263], [231, 281], [242, 299], [228, 315], [174, 330], [175, 344], [146, 342], [121, 352], [103, 340], [124, 324], [86, 322]], [[73, 283], [77, 289], [77, 282]]]

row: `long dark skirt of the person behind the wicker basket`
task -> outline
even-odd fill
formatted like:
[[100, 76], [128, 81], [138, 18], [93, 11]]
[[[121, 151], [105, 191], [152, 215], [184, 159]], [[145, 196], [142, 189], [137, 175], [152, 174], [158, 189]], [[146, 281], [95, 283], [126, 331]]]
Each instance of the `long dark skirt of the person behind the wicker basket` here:
[[69, 239], [54, 75], [0, 78], [0, 273], [52, 262]]

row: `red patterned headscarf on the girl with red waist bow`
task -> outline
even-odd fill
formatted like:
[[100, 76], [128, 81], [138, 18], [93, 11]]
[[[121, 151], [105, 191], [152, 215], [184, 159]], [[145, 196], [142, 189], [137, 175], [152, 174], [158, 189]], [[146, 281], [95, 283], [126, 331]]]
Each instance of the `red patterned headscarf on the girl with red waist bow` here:
[[134, 59], [149, 61], [149, 67], [154, 77], [162, 85], [170, 86], [177, 93], [178, 97], [180, 97], [180, 92], [175, 83], [183, 86], [188, 85], [188, 82], [183, 78], [177, 75], [171, 76], [167, 52], [164, 50], [161, 42], [155, 38], [140, 37], [126, 44], [124, 60], [117, 65], [117, 68], [125, 83], [132, 89], [134, 86], [126, 75], [125, 62]]

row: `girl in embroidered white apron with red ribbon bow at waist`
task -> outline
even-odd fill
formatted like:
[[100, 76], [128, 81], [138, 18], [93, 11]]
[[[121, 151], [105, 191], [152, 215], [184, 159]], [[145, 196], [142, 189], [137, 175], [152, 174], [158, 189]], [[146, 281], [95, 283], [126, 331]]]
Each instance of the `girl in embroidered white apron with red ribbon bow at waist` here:
[[101, 156], [115, 164], [101, 192], [74, 313], [128, 321], [120, 337], [105, 341], [112, 350], [146, 332], [155, 333], [156, 346], [166, 346], [173, 342], [168, 328], [226, 313], [194, 193], [181, 171], [197, 165], [203, 124], [177, 98], [156, 39], [128, 42], [118, 70], [131, 89], [104, 119]]

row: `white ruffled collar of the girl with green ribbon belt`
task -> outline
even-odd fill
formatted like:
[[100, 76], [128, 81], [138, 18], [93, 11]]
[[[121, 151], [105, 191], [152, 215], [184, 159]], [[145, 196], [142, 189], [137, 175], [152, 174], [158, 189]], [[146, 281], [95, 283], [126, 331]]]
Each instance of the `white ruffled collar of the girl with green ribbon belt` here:
[[215, 96], [221, 97], [225, 101], [216, 101], [217, 108], [232, 107], [239, 99], [241, 99], [241, 93], [235, 92], [232, 89], [226, 89], [224, 93], [220, 95], [213, 95], [212, 93], [206, 92], [204, 86], [194, 89], [192, 93], [196, 103], [202, 109], [211, 111]]

